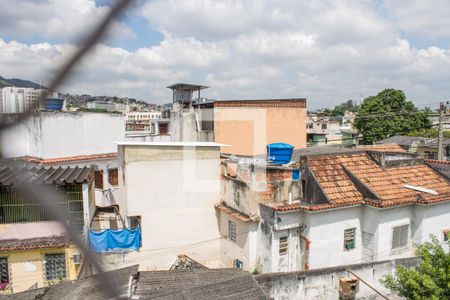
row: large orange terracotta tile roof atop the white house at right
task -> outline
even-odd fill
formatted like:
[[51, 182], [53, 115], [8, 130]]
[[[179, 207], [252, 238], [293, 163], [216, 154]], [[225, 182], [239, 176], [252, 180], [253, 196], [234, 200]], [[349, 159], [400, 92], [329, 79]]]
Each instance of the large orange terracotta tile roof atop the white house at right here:
[[[427, 165], [383, 169], [367, 153], [311, 157], [308, 162], [332, 205], [364, 201], [370, 205], [388, 207], [450, 200], [449, 182]], [[380, 199], [364, 197], [343, 166]], [[405, 184], [432, 189], [438, 195], [406, 189], [403, 187]]]

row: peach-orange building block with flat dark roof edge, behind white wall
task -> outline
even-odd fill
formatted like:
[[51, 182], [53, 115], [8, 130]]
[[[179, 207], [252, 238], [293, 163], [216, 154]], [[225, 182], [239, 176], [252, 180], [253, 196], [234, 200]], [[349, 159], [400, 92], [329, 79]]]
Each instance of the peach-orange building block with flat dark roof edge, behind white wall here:
[[198, 108], [202, 130], [210, 122], [214, 141], [228, 145], [222, 153], [263, 154], [267, 144], [277, 142], [306, 147], [306, 99], [226, 100]]

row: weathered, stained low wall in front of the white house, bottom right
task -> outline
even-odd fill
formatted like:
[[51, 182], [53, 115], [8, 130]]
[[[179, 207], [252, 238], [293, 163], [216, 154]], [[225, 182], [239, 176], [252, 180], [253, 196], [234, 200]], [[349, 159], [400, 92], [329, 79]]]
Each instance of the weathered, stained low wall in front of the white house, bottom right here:
[[[276, 300], [298, 299], [319, 300], [339, 299], [339, 278], [347, 277], [347, 268], [358, 274], [364, 281], [376, 287], [385, 295], [390, 292], [380, 284], [380, 278], [385, 274], [393, 274], [397, 264], [412, 267], [416, 259], [383, 261], [372, 264], [347, 265], [313, 271], [268, 273], [255, 276], [262, 289]], [[356, 299], [378, 299], [377, 294], [362, 282]]]

